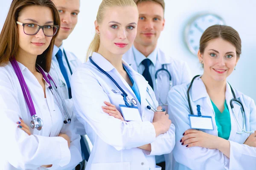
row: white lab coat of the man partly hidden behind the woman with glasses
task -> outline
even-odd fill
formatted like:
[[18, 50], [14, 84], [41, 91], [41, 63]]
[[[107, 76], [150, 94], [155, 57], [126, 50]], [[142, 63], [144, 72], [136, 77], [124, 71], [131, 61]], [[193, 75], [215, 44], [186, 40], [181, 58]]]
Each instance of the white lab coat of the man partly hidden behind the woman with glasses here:
[[[68, 78], [69, 78], [70, 84], [71, 84], [71, 73], [70, 73], [70, 69], [67, 65], [67, 61], [64, 57], [63, 45], [61, 45], [59, 48], [55, 45], [53, 47], [52, 65], [51, 65], [51, 69], [50, 69], [49, 74], [52, 76], [52, 78], [57, 80], [57, 83], [59, 85], [58, 91], [61, 93], [62, 98], [66, 102], [66, 107], [67, 107], [68, 112], [70, 114], [73, 114], [73, 110], [74, 110], [73, 99], [69, 98], [67, 83], [66, 83], [66, 81], [65, 81], [65, 79], [64, 79], [64, 77], [61, 73], [61, 69], [59, 67], [58, 60], [55, 56], [59, 49], [61, 49], [61, 51], [62, 51], [63, 63], [64, 63], [64, 66], [67, 70], [67, 75], [68, 75]], [[65, 52], [66, 52], [66, 55], [67, 55], [67, 60], [70, 64], [70, 68], [71, 68], [72, 72], [75, 72], [76, 68], [81, 65], [81, 61], [72, 52], [68, 52], [66, 50], [65, 50]], [[84, 126], [76, 119], [76, 115], [74, 115], [73, 121], [75, 122], [77, 133], [79, 135], [85, 135], [86, 132], [84, 130]]]

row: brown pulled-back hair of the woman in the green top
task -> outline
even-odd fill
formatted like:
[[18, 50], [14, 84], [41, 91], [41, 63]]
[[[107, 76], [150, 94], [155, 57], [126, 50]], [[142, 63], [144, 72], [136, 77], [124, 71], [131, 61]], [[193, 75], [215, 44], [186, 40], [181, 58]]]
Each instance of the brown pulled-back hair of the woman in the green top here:
[[241, 38], [239, 33], [233, 29], [231, 26], [223, 26], [223, 25], [214, 25], [207, 28], [200, 39], [199, 50], [204, 53], [204, 49], [207, 46], [209, 40], [215, 38], [222, 38], [233, 44], [236, 47], [236, 56], [237, 58], [241, 55]]

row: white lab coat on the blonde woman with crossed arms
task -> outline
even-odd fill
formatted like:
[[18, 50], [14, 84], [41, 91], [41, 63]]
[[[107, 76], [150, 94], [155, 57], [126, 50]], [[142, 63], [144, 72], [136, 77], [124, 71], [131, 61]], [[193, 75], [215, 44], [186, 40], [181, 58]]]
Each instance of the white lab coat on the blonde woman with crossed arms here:
[[[129, 98], [137, 99], [131, 87], [102, 55], [94, 52], [93, 61], [110, 74], [125, 90]], [[157, 100], [148, 82], [125, 61], [140, 91], [141, 104], [137, 107], [143, 122], [121, 121], [103, 112], [104, 101], [111, 102], [120, 112], [119, 104], [125, 104], [117, 86], [90, 61], [82, 64], [72, 76], [72, 92], [77, 118], [84, 124], [93, 143], [93, 150], [86, 170], [160, 170], [155, 165], [155, 155], [170, 153], [174, 147], [175, 127], [156, 138], [151, 124], [154, 112], [148, 110], [146, 98], [157, 106]], [[149, 92], [146, 89], [149, 89]], [[112, 91], [113, 90], [113, 91]], [[117, 93], [115, 93], [117, 92]], [[151, 97], [149, 94], [151, 94]], [[138, 147], [151, 144], [151, 153]]]

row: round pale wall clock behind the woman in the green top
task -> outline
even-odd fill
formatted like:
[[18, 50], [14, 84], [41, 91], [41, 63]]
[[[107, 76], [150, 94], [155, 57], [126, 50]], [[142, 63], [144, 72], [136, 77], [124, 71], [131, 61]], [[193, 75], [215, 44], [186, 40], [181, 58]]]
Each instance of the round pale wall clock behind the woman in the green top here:
[[189, 50], [197, 55], [199, 50], [200, 38], [203, 32], [213, 25], [224, 25], [224, 20], [215, 14], [203, 14], [195, 17], [191, 23], [189, 23], [185, 30], [186, 44]]

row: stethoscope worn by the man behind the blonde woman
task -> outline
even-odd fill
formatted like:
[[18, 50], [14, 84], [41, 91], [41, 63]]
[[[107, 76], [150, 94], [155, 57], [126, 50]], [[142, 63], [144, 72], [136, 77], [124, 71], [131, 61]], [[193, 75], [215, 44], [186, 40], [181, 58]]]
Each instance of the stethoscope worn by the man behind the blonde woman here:
[[[134, 55], [134, 61], [135, 61], [135, 63], [136, 63], [137, 68], [139, 69], [140, 67], [139, 67], [139, 65], [138, 65], [138, 63], [137, 63], [137, 61], [136, 61], [134, 50], [132, 49], [132, 51], [133, 51], [133, 55]], [[163, 101], [162, 101], [161, 98], [160, 98], [160, 93], [159, 93], [159, 89], [158, 89], [157, 75], [159, 75], [159, 74], [165, 74], [166, 76], [169, 76], [169, 85], [170, 85], [169, 90], [170, 90], [171, 87], [172, 87], [172, 76], [171, 76], [170, 72], [169, 72], [167, 69], [164, 68], [165, 65], [166, 65], [166, 64], [162, 64], [162, 68], [161, 68], [161, 69], [158, 69], [158, 70], [156, 71], [156, 73], [155, 73], [155, 82], [156, 82], [156, 90], [157, 90], [156, 93], [157, 93], [157, 97], [159, 98], [159, 105], [160, 105], [160, 106], [168, 106], [168, 101], [167, 101], [167, 98], [166, 98], [166, 102], [163, 103]], [[140, 74], [142, 74], [142, 70], [140, 70]], [[169, 91], [169, 90], [168, 90], [168, 91]]]

